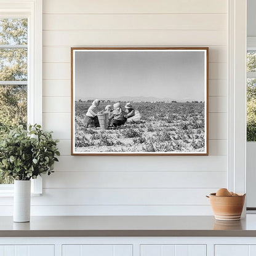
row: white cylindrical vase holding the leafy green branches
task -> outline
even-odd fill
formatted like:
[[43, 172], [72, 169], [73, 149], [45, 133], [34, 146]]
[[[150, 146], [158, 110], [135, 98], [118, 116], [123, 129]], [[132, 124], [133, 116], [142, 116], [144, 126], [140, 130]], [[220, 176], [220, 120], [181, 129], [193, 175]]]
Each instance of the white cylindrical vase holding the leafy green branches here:
[[30, 180], [14, 180], [14, 222], [30, 222], [30, 201]]

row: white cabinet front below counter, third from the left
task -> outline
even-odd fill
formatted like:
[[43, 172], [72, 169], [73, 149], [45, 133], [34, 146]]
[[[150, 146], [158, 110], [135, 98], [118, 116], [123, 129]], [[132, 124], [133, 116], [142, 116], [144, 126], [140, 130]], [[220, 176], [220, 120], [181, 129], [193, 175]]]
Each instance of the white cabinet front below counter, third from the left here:
[[140, 256], [206, 256], [205, 245], [141, 245]]

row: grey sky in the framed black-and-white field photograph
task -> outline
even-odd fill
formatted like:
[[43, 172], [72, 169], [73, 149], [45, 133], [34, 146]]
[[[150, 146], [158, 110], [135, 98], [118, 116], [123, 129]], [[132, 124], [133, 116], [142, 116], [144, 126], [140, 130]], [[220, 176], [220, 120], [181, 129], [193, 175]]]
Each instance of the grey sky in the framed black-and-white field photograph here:
[[75, 53], [75, 99], [119, 97], [204, 101], [204, 52]]

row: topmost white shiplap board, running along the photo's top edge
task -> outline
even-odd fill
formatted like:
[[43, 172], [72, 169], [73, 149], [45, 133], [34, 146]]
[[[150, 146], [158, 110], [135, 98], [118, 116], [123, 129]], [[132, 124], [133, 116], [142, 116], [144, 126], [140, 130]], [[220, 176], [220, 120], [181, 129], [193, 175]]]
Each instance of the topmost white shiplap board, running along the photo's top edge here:
[[44, 0], [44, 14], [190, 14], [226, 13], [227, 4], [223, 0], [142, 0], [81, 1]]

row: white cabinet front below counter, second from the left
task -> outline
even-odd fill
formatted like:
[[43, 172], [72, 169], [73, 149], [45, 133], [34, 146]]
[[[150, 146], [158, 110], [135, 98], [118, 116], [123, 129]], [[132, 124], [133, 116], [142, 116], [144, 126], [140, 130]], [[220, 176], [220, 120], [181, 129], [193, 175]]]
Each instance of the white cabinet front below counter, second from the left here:
[[63, 245], [62, 256], [132, 256], [132, 245]]

